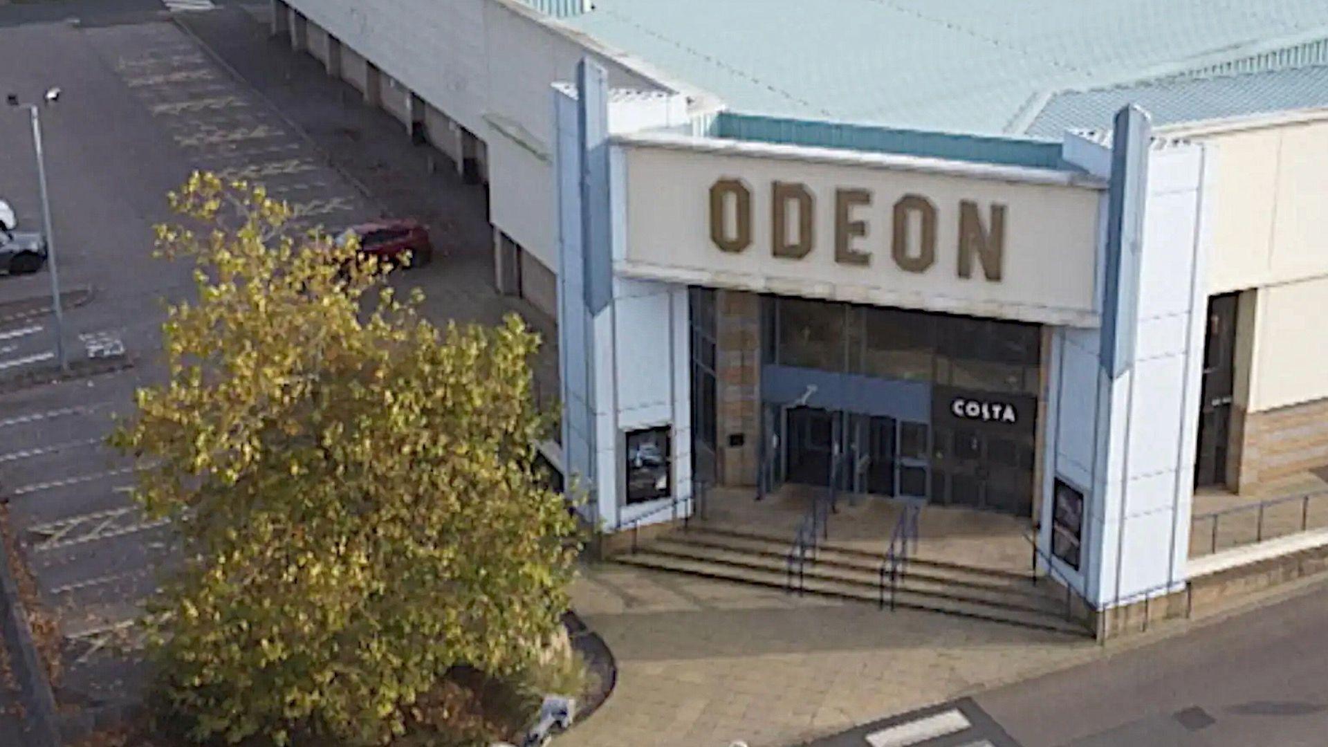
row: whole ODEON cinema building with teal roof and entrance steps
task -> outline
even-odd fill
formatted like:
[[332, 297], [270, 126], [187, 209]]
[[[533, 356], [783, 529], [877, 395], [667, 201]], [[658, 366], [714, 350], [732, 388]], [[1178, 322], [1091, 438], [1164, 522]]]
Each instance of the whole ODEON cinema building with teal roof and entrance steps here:
[[620, 561], [1101, 635], [1328, 544], [1323, 3], [745, 5], [275, 5], [487, 185]]

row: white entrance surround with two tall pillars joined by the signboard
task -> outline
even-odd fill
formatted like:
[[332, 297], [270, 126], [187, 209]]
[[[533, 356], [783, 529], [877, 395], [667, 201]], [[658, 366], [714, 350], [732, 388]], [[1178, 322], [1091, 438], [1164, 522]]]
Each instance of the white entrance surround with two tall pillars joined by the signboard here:
[[[720, 181], [752, 185], [752, 203], [760, 205], [769, 193], [762, 195], [756, 185], [782, 177], [806, 182], [817, 194], [834, 185], [875, 186], [891, 195], [884, 199], [887, 205], [896, 191], [931, 191], [939, 201], [963, 194], [1001, 203], [1009, 215], [1044, 207], [1007, 225], [1009, 274], [1000, 280], [1011, 279], [1011, 288], [993, 291], [1000, 283], [991, 278], [938, 272], [927, 279], [935, 287], [908, 295], [908, 303], [954, 311], [954, 299], [965, 298], [968, 306], [961, 310], [971, 315], [987, 311], [1058, 322], [1053, 324], [1048, 356], [1046, 468], [1040, 501], [1044, 532], [1038, 544], [1049, 556], [1053, 485], [1061, 480], [1085, 494], [1086, 518], [1080, 568], [1057, 570], [1089, 601], [1127, 603], [1183, 584], [1207, 300], [1208, 237], [1203, 226], [1211, 210], [1211, 169], [1203, 146], [1147, 146], [1142, 158], [1145, 181], [1133, 170], [1113, 174], [1110, 146], [1082, 137], [1068, 137], [1065, 142], [1066, 161], [1084, 169], [1072, 175], [938, 160], [891, 162], [846, 152], [831, 160], [819, 149], [761, 144], [741, 144], [738, 148], [745, 150], [734, 156], [732, 144], [709, 138], [619, 136], [604, 141], [611, 142], [612, 167], [596, 179], [594, 169], [583, 163], [587, 157], [578, 142], [576, 105], [567, 93], [558, 94], [559, 125], [564, 128], [559, 149], [564, 453], [568, 469], [584, 480], [610, 529], [641, 517], [671, 518], [660, 508], [667, 501], [625, 505], [625, 431], [671, 424], [675, 497], [689, 494], [684, 464], [689, 448], [687, 284], [843, 299], [834, 290], [837, 283], [880, 283], [887, 292], [895, 283], [892, 290], [898, 292], [898, 283], [916, 282], [920, 274], [869, 278], [871, 268], [862, 265], [843, 272], [827, 259], [835, 257], [834, 249], [818, 235], [811, 245], [821, 263], [807, 265], [799, 278], [789, 270], [790, 265], [802, 267], [797, 259], [770, 257], [762, 246], [776, 230], [769, 214], [753, 218], [750, 247], [724, 250], [722, 237], [714, 231], [733, 230], [732, 215], [712, 223], [709, 211], [718, 203], [710, 202], [706, 186]], [[594, 101], [590, 106], [583, 116], [592, 118]], [[612, 124], [614, 104], [607, 108]], [[667, 120], [660, 126], [673, 124]], [[1108, 251], [1106, 222], [1113, 214], [1104, 189], [1113, 179], [1122, 181], [1122, 193], [1143, 209], [1139, 234], [1122, 239], [1129, 246], [1121, 250], [1138, 258], [1133, 279], [1121, 280], [1121, 287], [1134, 288], [1133, 306], [1110, 300], [1104, 291], [1108, 265], [1116, 262]], [[599, 239], [586, 233], [595, 233], [595, 207], [583, 210], [587, 199], [595, 203], [596, 189], [607, 191], [602, 209], [608, 211], [606, 219], [612, 227]], [[708, 231], [706, 226], [717, 227]], [[891, 235], [888, 229], [882, 233]], [[857, 238], [876, 235], [882, 234], [862, 231]], [[944, 237], [938, 238], [939, 246], [944, 242]], [[1016, 259], [1020, 253], [1035, 257], [1035, 265], [1021, 265]], [[884, 254], [888, 257], [888, 251]], [[810, 257], [807, 253], [806, 259]], [[742, 265], [736, 265], [738, 261]], [[604, 267], [604, 262], [611, 266]], [[1037, 272], [1037, 267], [1042, 271]], [[596, 300], [587, 284], [604, 272], [612, 291]], [[1032, 276], [1021, 278], [1021, 272]], [[752, 276], [764, 279], [756, 284]], [[1060, 278], [1065, 287], [1053, 282]], [[858, 294], [847, 300], [872, 299]], [[1037, 308], [1041, 311], [1029, 311]], [[1052, 315], [1064, 308], [1076, 314]], [[1123, 351], [1120, 355], [1126, 362], [1121, 366], [1104, 352], [1104, 314], [1118, 315], [1117, 335], [1125, 342], [1110, 344]]]

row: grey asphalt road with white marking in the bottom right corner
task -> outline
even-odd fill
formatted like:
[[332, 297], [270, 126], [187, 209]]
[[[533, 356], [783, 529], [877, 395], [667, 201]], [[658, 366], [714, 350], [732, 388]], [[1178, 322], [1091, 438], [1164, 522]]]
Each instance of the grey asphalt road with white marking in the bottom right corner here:
[[863, 724], [811, 747], [1323, 747], [1324, 629], [1328, 584], [1182, 637]]

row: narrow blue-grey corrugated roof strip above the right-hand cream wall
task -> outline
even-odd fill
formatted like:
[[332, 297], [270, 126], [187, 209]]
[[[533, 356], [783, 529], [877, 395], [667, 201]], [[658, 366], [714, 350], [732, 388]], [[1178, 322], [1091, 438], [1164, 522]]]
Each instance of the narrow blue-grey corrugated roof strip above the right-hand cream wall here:
[[1328, 106], [1328, 65], [1060, 93], [1028, 134], [1060, 137], [1074, 128], [1110, 128], [1112, 116], [1127, 104], [1143, 106], [1154, 125]]

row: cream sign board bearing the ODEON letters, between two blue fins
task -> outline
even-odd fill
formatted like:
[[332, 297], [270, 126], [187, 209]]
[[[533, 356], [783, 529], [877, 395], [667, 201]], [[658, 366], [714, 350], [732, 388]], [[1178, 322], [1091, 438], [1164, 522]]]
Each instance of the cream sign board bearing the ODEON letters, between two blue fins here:
[[1098, 323], [1101, 182], [1044, 169], [724, 142], [619, 141], [627, 190], [619, 274]]

